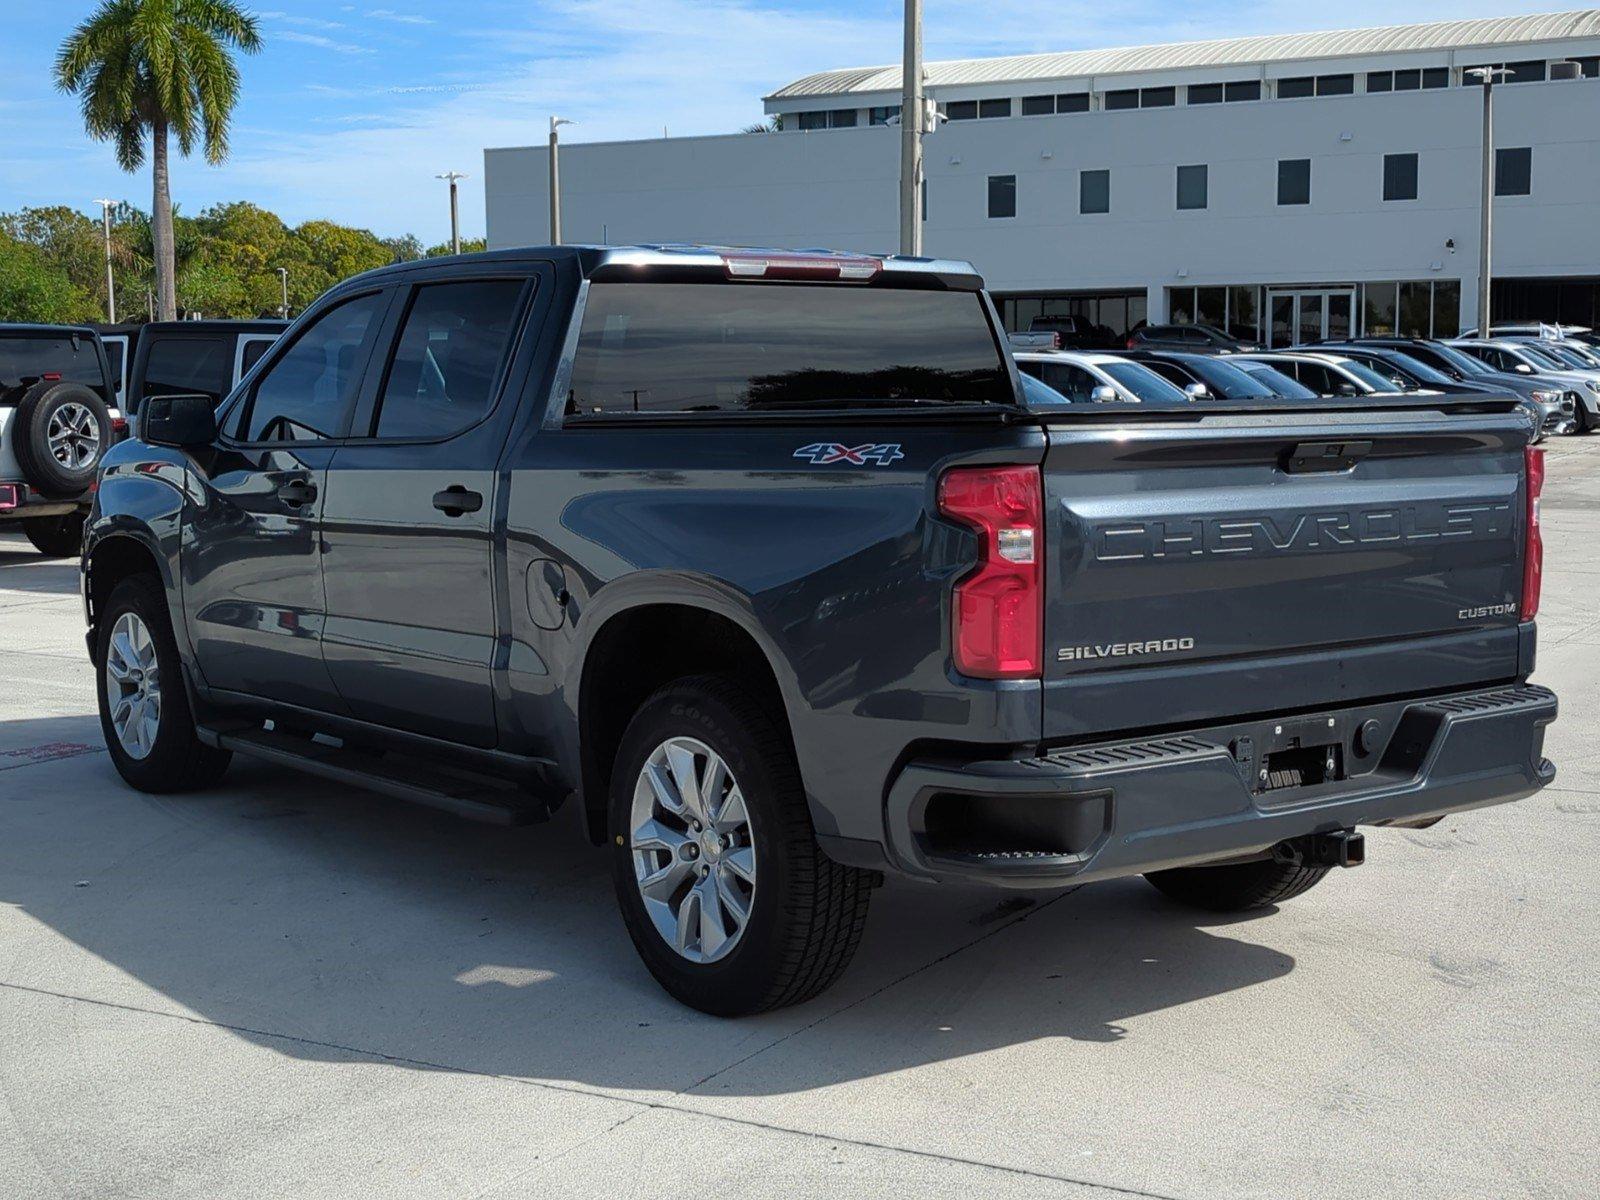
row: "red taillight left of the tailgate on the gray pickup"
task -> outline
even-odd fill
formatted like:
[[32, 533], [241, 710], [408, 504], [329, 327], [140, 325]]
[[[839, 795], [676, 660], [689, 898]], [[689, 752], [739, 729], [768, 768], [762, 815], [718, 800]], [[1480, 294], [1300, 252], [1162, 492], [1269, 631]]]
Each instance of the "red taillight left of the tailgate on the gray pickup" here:
[[950, 658], [976, 678], [1043, 670], [1045, 501], [1038, 467], [955, 467], [939, 512], [978, 531], [978, 566], [955, 584]]

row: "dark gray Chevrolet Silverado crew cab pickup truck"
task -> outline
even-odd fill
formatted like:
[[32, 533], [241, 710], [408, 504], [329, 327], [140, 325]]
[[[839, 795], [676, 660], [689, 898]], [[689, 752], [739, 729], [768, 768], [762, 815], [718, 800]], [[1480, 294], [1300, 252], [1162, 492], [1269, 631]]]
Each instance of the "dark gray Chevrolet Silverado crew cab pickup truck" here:
[[424, 261], [146, 402], [88, 648], [134, 787], [245, 754], [568, 805], [650, 971], [742, 1014], [827, 987], [886, 874], [1259, 907], [1550, 782], [1531, 435], [1493, 395], [1034, 413], [962, 262]]

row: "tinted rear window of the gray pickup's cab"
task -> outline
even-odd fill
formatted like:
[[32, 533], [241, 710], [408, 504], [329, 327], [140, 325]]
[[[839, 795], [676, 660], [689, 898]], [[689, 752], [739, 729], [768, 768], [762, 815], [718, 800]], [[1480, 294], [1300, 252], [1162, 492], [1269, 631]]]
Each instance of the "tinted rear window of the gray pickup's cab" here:
[[1016, 405], [976, 291], [594, 283], [568, 413]]

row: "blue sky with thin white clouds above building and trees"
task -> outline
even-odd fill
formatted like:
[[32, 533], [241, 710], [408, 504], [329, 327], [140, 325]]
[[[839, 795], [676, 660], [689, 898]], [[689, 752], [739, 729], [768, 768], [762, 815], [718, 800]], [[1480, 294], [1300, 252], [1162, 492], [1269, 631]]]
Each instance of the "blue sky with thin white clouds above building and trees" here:
[[[50, 83], [88, 0], [10, 0], [0, 34], [0, 211], [96, 197], [149, 206]], [[1550, 11], [1517, 0], [926, 0], [926, 54], [965, 58]], [[464, 234], [483, 232], [485, 146], [733, 133], [760, 96], [830, 67], [894, 62], [901, 0], [266, 0], [266, 50], [242, 64], [234, 157], [174, 162], [186, 211], [251, 200], [290, 221], [448, 235], [440, 171], [467, 171]]]

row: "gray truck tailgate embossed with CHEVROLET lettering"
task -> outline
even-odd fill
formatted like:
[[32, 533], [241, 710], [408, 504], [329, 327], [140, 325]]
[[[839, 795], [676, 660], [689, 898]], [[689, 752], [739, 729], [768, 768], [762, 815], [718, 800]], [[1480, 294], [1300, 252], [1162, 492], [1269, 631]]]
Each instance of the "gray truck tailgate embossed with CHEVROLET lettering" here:
[[1046, 739], [1528, 669], [1530, 429], [1514, 411], [1133, 416], [1048, 435]]

